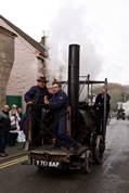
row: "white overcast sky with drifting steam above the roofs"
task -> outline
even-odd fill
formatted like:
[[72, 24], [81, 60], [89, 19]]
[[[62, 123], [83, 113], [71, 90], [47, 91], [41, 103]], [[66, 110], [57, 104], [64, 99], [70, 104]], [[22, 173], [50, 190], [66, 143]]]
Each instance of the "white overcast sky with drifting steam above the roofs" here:
[[35, 40], [46, 31], [54, 69], [67, 72], [68, 44], [78, 43], [81, 75], [121, 85], [129, 85], [128, 10], [128, 0], [0, 0], [0, 14]]

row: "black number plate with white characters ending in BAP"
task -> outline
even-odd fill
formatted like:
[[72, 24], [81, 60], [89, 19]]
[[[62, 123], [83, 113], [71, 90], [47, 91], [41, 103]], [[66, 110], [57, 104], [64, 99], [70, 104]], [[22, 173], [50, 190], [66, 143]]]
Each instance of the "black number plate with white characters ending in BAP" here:
[[61, 163], [59, 163], [59, 162], [52, 162], [52, 160], [50, 160], [50, 162], [47, 162], [47, 160], [35, 160], [34, 163], [35, 163], [35, 165], [37, 165], [37, 166], [54, 167], [54, 168], [60, 167], [60, 164], [61, 164]]

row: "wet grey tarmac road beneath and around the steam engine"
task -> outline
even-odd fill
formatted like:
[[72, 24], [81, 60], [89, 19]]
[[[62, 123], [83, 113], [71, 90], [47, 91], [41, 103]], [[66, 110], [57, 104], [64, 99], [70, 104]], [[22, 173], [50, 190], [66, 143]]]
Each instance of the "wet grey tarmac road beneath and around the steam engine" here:
[[129, 120], [112, 119], [103, 165], [93, 166], [90, 175], [38, 170], [22, 165], [22, 158], [0, 165], [0, 193], [129, 193]]

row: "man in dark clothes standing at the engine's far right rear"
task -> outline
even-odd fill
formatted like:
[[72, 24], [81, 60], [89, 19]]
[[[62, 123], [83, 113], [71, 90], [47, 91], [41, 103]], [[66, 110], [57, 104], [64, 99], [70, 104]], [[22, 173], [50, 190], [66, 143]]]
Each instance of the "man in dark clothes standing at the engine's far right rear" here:
[[[105, 103], [105, 110], [104, 110]], [[105, 125], [107, 123], [109, 110], [111, 110], [111, 95], [106, 92], [105, 88], [101, 88], [100, 93], [95, 98], [95, 106], [98, 113], [98, 132], [103, 131], [104, 127], [104, 111], [105, 111]]]

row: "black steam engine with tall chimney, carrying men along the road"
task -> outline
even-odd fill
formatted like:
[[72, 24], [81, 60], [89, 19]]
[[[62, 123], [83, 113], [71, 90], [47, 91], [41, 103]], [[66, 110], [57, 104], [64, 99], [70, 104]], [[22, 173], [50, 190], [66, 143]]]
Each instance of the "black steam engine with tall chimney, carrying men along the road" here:
[[[107, 88], [107, 80], [94, 81], [90, 80], [89, 76], [85, 80], [79, 80], [79, 49], [78, 44], [69, 46], [68, 82], [62, 83], [67, 85], [68, 91], [67, 132], [81, 145], [76, 153], [72, 153], [66, 149], [54, 147], [50, 144], [42, 144], [37, 149], [30, 147], [28, 151], [29, 162], [39, 168], [67, 167], [69, 169], [82, 169], [85, 172], [91, 172], [93, 163], [102, 163], [105, 149], [106, 104], [104, 102], [103, 130], [98, 132], [96, 110], [91, 100], [90, 103], [89, 99], [88, 101], [80, 101], [79, 94], [82, 88], [87, 86], [86, 93], [89, 97], [90, 87], [92, 88], [94, 83], [102, 83]], [[106, 94], [104, 101], [106, 101]], [[50, 126], [47, 127], [49, 130]], [[30, 134], [29, 140], [31, 140]]]

